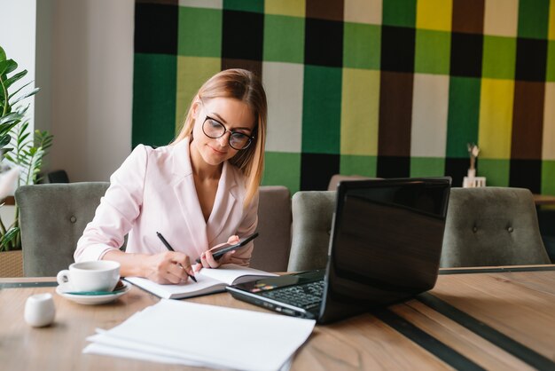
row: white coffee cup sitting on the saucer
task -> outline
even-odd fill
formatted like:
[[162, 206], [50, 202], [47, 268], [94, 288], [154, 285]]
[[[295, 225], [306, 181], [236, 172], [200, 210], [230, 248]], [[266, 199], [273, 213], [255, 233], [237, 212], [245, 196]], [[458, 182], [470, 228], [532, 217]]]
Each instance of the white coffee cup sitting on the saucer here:
[[56, 277], [64, 291], [112, 291], [120, 280], [120, 263], [97, 260], [69, 265]]

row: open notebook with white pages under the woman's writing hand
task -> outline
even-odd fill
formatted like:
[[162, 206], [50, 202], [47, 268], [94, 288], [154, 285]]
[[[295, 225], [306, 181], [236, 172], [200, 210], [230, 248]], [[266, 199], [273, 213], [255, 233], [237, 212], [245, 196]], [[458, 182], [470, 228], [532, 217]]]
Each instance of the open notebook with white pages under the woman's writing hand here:
[[195, 274], [198, 282], [188, 280], [180, 285], [161, 285], [141, 277], [127, 277], [125, 280], [165, 299], [183, 299], [222, 292], [226, 286], [276, 275], [237, 264], [223, 264], [218, 269], [201, 269]]

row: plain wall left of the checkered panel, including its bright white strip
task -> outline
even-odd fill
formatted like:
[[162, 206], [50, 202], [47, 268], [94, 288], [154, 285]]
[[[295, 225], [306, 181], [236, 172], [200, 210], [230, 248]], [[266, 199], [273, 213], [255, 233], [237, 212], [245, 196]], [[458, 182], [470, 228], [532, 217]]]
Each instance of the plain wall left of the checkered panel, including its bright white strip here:
[[0, 0], [0, 17], [0, 44], [41, 88], [45, 168], [108, 180], [131, 150], [134, 1]]

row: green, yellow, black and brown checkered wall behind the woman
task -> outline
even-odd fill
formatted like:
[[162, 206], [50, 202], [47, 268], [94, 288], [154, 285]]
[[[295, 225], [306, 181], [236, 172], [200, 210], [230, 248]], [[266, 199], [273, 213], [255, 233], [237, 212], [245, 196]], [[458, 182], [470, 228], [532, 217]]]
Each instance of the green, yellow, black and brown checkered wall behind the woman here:
[[136, 4], [133, 146], [165, 145], [223, 68], [262, 75], [263, 183], [450, 175], [555, 194], [555, 0]]

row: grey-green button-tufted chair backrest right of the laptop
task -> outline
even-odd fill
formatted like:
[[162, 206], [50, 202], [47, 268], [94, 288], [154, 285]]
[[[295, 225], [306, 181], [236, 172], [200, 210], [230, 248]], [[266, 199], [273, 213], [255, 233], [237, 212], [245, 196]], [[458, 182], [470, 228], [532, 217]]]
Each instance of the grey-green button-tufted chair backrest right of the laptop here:
[[451, 189], [442, 267], [549, 263], [528, 189]]

